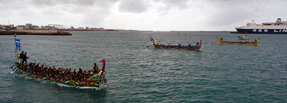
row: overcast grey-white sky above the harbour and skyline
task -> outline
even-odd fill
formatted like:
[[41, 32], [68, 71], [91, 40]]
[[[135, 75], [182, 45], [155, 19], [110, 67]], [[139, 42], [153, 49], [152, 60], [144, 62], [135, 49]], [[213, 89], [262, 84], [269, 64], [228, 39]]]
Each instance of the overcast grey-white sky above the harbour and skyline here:
[[287, 21], [286, 0], [1, 0], [0, 9], [0, 24], [14, 26], [236, 31], [253, 19]]

